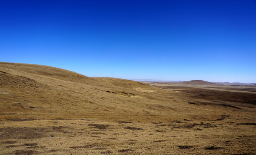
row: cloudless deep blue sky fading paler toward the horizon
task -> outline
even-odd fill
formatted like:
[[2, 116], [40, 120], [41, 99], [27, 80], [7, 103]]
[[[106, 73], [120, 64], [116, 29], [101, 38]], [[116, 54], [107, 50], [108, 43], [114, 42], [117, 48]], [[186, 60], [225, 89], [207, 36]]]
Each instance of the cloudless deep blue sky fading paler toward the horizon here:
[[0, 0], [0, 61], [89, 77], [256, 82], [255, 0]]

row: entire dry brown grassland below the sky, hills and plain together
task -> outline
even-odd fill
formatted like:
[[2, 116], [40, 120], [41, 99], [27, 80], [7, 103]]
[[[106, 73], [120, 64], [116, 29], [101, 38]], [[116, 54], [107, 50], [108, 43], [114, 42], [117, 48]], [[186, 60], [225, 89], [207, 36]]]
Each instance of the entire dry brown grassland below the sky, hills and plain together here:
[[256, 155], [256, 86], [0, 62], [0, 154]]

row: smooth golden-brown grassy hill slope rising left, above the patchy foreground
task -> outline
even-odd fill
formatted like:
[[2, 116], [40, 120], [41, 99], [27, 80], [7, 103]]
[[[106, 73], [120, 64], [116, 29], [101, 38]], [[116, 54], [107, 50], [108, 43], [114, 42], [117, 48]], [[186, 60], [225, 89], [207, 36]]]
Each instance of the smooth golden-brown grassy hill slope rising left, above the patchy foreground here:
[[89, 78], [49, 66], [0, 62], [0, 119], [165, 121], [178, 116], [211, 118], [211, 111], [215, 115], [212, 109], [195, 107], [178, 95], [136, 81]]

